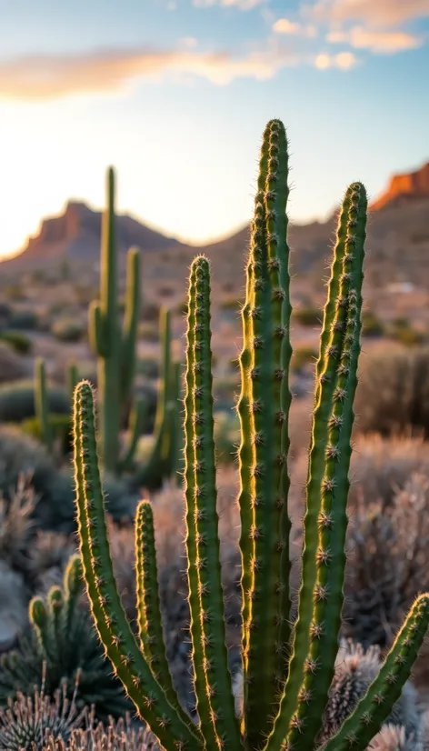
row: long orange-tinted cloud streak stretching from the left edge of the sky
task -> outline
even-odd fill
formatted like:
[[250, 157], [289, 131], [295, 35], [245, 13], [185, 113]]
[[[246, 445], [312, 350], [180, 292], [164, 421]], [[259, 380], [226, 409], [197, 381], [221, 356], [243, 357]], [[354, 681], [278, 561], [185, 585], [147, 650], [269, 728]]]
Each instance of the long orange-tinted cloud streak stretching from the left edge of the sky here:
[[135, 79], [165, 75], [199, 75], [215, 85], [236, 78], [272, 78], [299, 58], [289, 48], [268, 44], [242, 57], [229, 52], [197, 52], [194, 41], [182, 40], [172, 50], [104, 49], [84, 55], [27, 55], [0, 62], [0, 98], [52, 99], [63, 95], [106, 92]]

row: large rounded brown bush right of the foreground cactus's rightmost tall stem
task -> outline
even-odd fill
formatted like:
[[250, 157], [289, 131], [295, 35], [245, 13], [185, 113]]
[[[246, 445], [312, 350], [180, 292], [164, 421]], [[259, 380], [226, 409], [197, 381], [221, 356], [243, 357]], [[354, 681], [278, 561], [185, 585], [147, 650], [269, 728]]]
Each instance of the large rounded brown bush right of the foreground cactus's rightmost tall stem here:
[[356, 426], [384, 436], [429, 436], [429, 348], [383, 348], [362, 359], [354, 402]]

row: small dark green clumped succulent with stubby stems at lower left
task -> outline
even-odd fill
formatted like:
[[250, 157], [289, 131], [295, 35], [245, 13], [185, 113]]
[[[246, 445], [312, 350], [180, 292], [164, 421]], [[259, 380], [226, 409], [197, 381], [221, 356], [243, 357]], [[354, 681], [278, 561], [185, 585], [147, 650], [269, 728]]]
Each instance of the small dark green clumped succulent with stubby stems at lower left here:
[[43, 679], [49, 696], [65, 682], [66, 696], [75, 696], [77, 708], [94, 705], [99, 719], [119, 717], [130, 708], [121, 683], [105, 660], [91, 616], [80, 602], [83, 590], [82, 565], [75, 555], [65, 569], [64, 587], [52, 586], [46, 600], [33, 597], [29, 606], [31, 635], [1, 658], [1, 705], [19, 693], [28, 695], [34, 686], [41, 687]]

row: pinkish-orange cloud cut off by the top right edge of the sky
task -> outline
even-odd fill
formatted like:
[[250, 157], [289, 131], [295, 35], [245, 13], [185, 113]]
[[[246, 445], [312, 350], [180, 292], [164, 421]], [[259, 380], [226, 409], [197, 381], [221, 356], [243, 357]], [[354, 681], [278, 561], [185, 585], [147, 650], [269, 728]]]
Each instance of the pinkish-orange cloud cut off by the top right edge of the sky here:
[[305, 10], [322, 22], [359, 21], [373, 28], [392, 28], [429, 16], [429, 0], [318, 0]]

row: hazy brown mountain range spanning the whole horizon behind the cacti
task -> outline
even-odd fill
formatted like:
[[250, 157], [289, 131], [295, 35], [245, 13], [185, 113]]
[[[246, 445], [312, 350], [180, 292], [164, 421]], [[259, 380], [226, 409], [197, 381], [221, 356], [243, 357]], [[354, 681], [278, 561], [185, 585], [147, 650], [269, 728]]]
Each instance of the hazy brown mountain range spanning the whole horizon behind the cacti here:
[[[370, 206], [365, 278], [378, 287], [396, 281], [429, 288], [429, 163], [416, 172], [394, 175], [384, 194]], [[337, 211], [325, 222], [290, 225], [291, 272], [320, 280], [326, 276], [335, 236]], [[223, 285], [241, 285], [249, 226], [204, 246], [190, 246], [141, 224], [128, 215], [116, 220], [119, 251], [131, 245], [148, 253], [145, 278], [154, 286], [185, 278], [197, 253], [207, 255], [214, 278]], [[55, 260], [86, 259], [94, 265], [100, 252], [101, 214], [83, 203], [70, 202], [62, 215], [45, 219], [20, 255], [2, 263], [2, 270], [30, 269]], [[160, 255], [156, 251], [171, 251]], [[178, 251], [178, 252], [176, 252]]]

